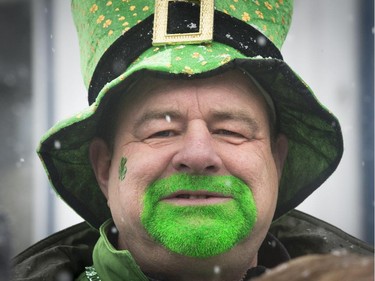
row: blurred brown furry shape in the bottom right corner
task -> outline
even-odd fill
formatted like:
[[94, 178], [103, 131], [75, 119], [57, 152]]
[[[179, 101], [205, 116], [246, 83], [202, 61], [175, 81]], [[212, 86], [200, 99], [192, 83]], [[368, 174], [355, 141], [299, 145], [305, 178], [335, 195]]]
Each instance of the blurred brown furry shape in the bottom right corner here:
[[373, 281], [374, 257], [308, 255], [283, 263], [254, 281]]

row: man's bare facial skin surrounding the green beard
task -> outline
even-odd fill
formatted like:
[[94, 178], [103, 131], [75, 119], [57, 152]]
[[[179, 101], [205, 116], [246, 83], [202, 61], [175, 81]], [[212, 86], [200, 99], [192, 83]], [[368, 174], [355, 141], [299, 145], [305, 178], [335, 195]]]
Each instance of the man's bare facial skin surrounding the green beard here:
[[[284, 137], [271, 147], [263, 96], [237, 71], [201, 80], [142, 81], [120, 108], [111, 159], [100, 140], [91, 146], [94, 170], [119, 231], [118, 247], [128, 249], [146, 271], [153, 270], [147, 260], [164, 259], [170, 264], [178, 263], [176, 257], [188, 260], [157, 242], [142, 222], [148, 188], [172, 175], [233, 176], [253, 195], [255, 225], [231, 249], [206, 260], [219, 262], [225, 256], [227, 263], [231, 258], [255, 265], [274, 214], [287, 150]], [[216, 197], [203, 186], [191, 194], [174, 192], [160, 200], [172, 208], [235, 200]]]

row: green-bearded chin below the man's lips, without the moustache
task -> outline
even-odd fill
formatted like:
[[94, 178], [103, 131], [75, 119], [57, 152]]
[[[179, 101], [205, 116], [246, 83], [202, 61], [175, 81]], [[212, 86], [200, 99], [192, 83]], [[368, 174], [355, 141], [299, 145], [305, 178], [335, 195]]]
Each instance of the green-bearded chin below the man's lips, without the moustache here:
[[249, 235], [254, 222], [234, 200], [199, 206], [161, 202], [144, 220], [151, 236], [169, 251], [199, 259], [228, 252]]

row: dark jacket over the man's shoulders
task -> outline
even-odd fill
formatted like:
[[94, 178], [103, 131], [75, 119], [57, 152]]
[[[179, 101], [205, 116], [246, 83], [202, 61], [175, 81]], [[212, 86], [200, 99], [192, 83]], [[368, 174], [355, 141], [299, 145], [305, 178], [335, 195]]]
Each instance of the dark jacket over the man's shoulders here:
[[[99, 237], [99, 232], [86, 223], [58, 232], [13, 259], [13, 280], [50, 281], [58, 280], [62, 275], [70, 275], [74, 279], [80, 276], [78, 280], [88, 280], [82, 273], [86, 267], [93, 265], [94, 246], [97, 244], [98, 248], [108, 249], [105, 239]], [[293, 210], [272, 224], [259, 250], [258, 260], [265, 268], [272, 268], [290, 258], [344, 249], [350, 253], [374, 254], [373, 248], [366, 243], [330, 224]], [[127, 269], [135, 274], [132, 276], [139, 276], [136, 280], [147, 280], [130, 253], [122, 252], [119, 262], [127, 264]]]

